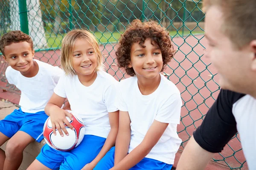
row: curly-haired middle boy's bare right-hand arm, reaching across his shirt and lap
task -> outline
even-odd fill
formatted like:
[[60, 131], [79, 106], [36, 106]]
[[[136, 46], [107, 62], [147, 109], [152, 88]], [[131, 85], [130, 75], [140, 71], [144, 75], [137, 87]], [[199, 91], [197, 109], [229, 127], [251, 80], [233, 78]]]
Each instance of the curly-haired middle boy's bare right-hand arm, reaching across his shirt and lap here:
[[154, 120], [143, 141], [127, 156], [125, 156], [122, 161], [111, 168], [111, 170], [128, 170], [131, 167], [134, 167], [134, 165], [139, 163], [146, 155], [148, 155], [154, 145], [157, 144], [168, 125], [168, 123], [162, 123]]

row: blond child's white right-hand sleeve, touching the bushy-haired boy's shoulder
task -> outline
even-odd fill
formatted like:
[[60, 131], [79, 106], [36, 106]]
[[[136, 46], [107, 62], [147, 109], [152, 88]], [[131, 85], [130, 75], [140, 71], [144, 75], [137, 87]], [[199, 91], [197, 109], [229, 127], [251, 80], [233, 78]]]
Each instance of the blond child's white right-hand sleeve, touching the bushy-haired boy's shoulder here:
[[118, 109], [115, 106], [115, 97], [116, 97], [116, 84], [118, 82], [114, 82], [112, 85], [110, 85], [104, 94], [104, 102], [105, 106], [107, 107], [108, 112], [115, 112], [118, 111]]

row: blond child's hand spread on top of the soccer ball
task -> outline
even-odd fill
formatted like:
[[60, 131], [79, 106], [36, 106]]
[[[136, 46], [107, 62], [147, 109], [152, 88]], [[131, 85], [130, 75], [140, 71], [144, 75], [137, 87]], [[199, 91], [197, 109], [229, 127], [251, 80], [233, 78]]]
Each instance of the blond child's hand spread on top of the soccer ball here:
[[52, 131], [54, 135], [56, 135], [57, 128], [61, 136], [64, 136], [62, 130], [68, 136], [69, 134], [65, 128], [65, 125], [67, 125], [70, 129], [75, 130], [74, 127], [67, 120], [66, 116], [68, 116], [70, 120], [73, 120], [72, 114], [68, 113], [67, 111], [61, 108], [56, 107], [53, 111], [51, 111], [50, 117], [52, 122]]

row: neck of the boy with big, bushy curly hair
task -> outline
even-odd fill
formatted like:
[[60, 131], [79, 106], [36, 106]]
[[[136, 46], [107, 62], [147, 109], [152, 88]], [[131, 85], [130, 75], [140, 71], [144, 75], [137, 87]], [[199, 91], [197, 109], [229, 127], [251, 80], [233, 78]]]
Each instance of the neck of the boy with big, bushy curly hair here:
[[145, 79], [143, 77], [137, 77], [137, 78], [138, 78], [138, 86], [139, 86], [140, 92], [143, 95], [152, 94], [155, 90], [157, 90], [161, 81], [160, 74], [158, 74], [158, 76], [156, 76], [153, 79]]

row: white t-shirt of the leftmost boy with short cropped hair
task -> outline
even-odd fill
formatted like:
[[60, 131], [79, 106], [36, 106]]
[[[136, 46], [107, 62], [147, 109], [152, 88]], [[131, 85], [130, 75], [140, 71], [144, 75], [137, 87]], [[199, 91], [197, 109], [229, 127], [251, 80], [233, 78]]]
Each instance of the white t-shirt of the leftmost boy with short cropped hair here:
[[47, 102], [53, 94], [53, 89], [64, 72], [57, 66], [49, 65], [34, 59], [39, 71], [34, 77], [24, 77], [20, 71], [11, 66], [6, 69], [6, 79], [20, 91], [20, 107], [23, 112], [36, 113], [44, 111]]

